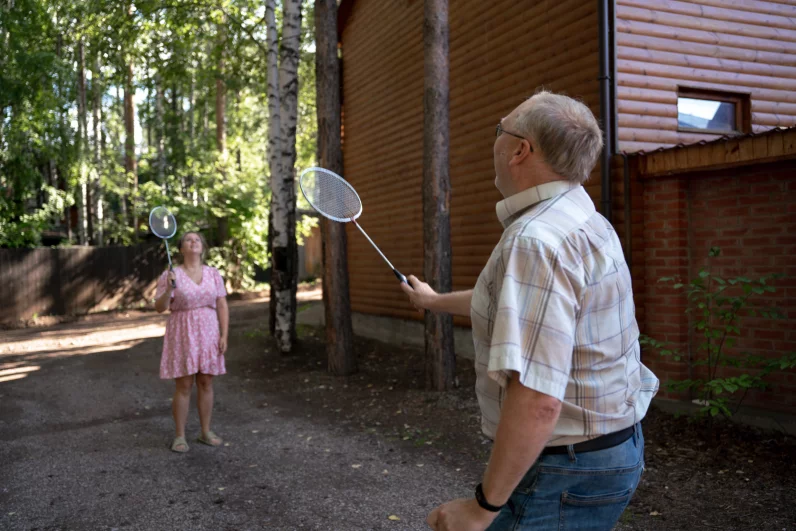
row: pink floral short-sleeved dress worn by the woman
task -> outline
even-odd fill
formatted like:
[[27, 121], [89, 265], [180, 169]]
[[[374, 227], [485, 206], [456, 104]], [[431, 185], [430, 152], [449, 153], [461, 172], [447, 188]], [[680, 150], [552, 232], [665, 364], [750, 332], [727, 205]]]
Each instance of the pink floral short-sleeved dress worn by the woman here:
[[[177, 288], [172, 292], [160, 377], [174, 379], [202, 374], [225, 374], [224, 356], [218, 353], [220, 329], [216, 300], [227, 290], [214, 267], [202, 266], [202, 281], [197, 284], [181, 267], [174, 268]], [[168, 271], [158, 279], [156, 297], [166, 292]]]

